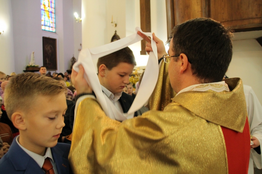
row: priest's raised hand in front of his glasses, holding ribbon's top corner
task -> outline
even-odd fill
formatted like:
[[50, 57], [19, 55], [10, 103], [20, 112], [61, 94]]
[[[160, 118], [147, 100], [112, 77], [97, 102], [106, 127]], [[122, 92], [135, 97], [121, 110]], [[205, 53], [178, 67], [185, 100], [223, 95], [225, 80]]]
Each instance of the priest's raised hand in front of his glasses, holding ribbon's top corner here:
[[[152, 46], [151, 46], [151, 39], [149, 37], [147, 37], [145, 34], [141, 33], [140, 31], [137, 32], [137, 34], [139, 36], [141, 36], [143, 39], [145, 39], [146, 42], [146, 52], [149, 54], [150, 51], [153, 51], [152, 50]], [[157, 57], [158, 57], [158, 60], [163, 57], [163, 55], [166, 55], [166, 48], [165, 48], [165, 45], [163, 43], [162, 40], [160, 40], [158, 37], [156, 37], [155, 33], [152, 34], [153, 36], [153, 40], [156, 42], [156, 47], [157, 47]]]

